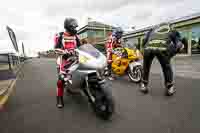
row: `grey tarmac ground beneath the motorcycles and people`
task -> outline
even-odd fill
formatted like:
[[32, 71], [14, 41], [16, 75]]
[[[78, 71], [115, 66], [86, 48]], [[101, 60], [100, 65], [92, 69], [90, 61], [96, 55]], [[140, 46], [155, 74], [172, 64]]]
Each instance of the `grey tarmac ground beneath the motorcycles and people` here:
[[[184, 70], [181, 61], [176, 65]], [[109, 82], [116, 114], [103, 121], [84, 97], [65, 97], [65, 107], [57, 109], [55, 60], [33, 59], [24, 64], [16, 89], [0, 113], [0, 133], [199, 133], [200, 78], [188, 72], [176, 74], [177, 93], [166, 97], [160, 66], [152, 67], [147, 95], [127, 77]]]

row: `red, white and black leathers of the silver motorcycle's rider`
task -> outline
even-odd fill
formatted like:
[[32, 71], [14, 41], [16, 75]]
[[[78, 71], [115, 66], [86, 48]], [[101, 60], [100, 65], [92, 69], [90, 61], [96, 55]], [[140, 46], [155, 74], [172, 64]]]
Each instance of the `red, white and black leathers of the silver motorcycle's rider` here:
[[[69, 58], [76, 56], [75, 49], [80, 46], [80, 40], [77, 35], [70, 35], [68, 32], [60, 32], [55, 36], [55, 51], [62, 51], [65, 54], [59, 54], [57, 57], [57, 70], [58, 70], [58, 81], [57, 81], [57, 101], [62, 102], [64, 93], [64, 83], [70, 81], [71, 72], [67, 71], [75, 61], [77, 60], [68, 60]], [[58, 52], [59, 53], [59, 52]], [[76, 59], [76, 58], [74, 58]], [[59, 104], [59, 103], [57, 103]]]

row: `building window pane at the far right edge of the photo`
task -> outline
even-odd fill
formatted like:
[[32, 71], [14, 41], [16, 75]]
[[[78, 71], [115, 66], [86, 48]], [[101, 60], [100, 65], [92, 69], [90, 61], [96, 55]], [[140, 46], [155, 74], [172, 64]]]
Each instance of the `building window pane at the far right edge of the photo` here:
[[200, 25], [192, 27], [192, 54], [200, 53]]

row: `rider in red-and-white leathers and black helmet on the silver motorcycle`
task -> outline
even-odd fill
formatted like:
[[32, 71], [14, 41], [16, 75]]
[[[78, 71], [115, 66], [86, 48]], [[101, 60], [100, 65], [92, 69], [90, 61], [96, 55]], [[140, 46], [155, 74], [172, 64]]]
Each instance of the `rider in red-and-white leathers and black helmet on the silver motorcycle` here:
[[[77, 36], [77, 21], [73, 18], [66, 18], [64, 21], [64, 32], [55, 35], [55, 52], [59, 54], [57, 58], [58, 81], [57, 81], [57, 107], [62, 108], [64, 82], [71, 79], [71, 73], [66, 71], [71, 67], [75, 60], [68, 60], [75, 55], [75, 49], [80, 46], [80, 40]], [[74, 58], [76, 59], [76, 58]]]

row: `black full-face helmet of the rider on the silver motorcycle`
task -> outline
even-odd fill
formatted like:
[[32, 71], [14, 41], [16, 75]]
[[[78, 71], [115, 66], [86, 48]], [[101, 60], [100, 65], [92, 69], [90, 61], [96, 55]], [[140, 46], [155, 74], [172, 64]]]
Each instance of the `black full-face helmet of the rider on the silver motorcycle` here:
[[74, 18], [66, 18], [64, 21], [64, 28], [67, 30], [71, 35], [75, 35], [77, 33], [76, 28], [78, 27], [78, 23]]

